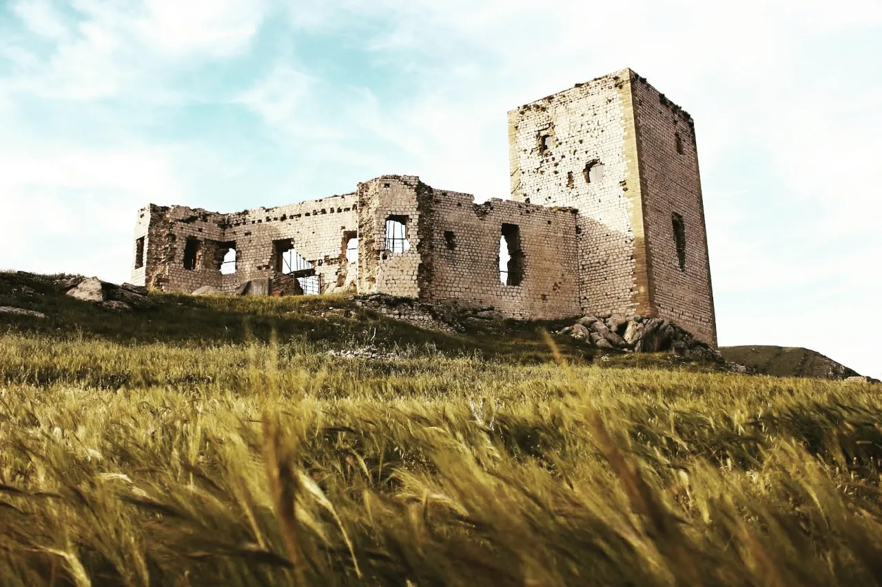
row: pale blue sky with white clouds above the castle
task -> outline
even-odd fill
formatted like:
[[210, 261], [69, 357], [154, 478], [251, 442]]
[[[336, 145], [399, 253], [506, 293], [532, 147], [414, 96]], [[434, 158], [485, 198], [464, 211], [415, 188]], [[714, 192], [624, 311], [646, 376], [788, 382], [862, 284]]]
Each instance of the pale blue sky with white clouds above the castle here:
[[632, 67], [693, 115], [723, 345], [882, 377], [882, 3], [0, 0], [0, 267], [382, 174], [508, 193], [505, 112]]

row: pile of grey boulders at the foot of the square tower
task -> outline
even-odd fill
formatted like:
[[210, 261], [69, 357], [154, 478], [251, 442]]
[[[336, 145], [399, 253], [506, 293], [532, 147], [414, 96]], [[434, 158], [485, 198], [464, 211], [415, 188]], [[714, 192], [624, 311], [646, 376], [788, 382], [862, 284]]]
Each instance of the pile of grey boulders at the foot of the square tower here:
[[648, 316], [583, 316], [557, 334], [596, 348], [634, 353], [677, 353], [691, 359], [723, 362], [716, 350], [669, 320]]

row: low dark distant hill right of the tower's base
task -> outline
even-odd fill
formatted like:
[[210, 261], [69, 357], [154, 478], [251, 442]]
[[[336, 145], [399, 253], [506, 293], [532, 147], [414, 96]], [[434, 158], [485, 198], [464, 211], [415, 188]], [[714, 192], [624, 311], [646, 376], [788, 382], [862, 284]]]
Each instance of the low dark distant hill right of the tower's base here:
[[845, 379], [857, 372], [821, 353], [794, 346], [722, 346], [726, 360], [779, 377]]

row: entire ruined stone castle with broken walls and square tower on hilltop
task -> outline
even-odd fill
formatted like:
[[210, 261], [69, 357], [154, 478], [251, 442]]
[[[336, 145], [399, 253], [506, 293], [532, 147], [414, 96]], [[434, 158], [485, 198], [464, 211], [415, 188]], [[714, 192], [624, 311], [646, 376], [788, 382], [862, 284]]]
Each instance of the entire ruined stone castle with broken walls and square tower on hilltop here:
[[138, 213], [132, 282], [654, 316], [716, 346], [691, 116], [626, 69], [508, 113], [511, 199], [384, 175], [311, 202]]

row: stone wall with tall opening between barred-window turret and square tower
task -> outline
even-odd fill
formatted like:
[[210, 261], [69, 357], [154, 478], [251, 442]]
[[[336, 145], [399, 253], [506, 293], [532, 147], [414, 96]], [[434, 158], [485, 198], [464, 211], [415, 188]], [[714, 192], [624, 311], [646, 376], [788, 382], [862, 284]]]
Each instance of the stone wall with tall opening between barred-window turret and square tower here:
[[[432, 273], [424, 297], [492, 306], [505, 316], [551, 319], [579, 314], [576, 215], [512, 200], [475, 204], [469, 194], [433, 189], [432, 222], [423, 260]], [[518, 227], [519, 285], [500, 280], [503, 224]]]

